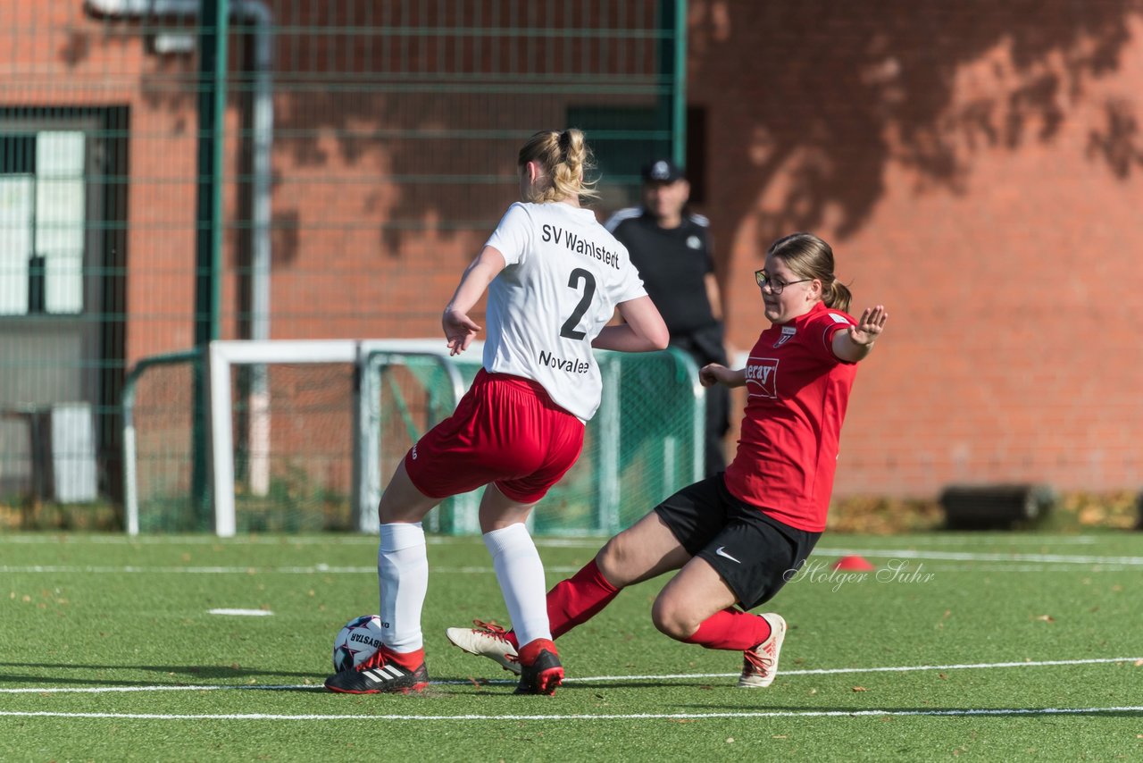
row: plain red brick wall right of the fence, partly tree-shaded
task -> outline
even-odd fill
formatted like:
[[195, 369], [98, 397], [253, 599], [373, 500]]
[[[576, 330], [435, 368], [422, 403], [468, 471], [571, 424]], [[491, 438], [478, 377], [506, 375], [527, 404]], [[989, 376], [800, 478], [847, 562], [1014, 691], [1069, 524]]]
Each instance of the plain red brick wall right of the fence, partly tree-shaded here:
[[777, 235], [829, 240], [858, 374], [836, 495], [1136, 488], [1143, 19], [1127, 2], [692, 3], [729, 333]]

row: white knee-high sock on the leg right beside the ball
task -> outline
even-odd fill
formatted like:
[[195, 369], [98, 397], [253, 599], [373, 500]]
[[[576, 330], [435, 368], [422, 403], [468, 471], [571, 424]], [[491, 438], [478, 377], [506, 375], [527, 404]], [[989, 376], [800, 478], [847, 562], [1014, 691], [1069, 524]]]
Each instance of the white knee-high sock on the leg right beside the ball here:
[[429, 591], [429, 557], [421, 523], [381, 526], [377, 547], [381, 589], [381, 641], [394, 652], [414, 652], [424, 645], [421, 610]]

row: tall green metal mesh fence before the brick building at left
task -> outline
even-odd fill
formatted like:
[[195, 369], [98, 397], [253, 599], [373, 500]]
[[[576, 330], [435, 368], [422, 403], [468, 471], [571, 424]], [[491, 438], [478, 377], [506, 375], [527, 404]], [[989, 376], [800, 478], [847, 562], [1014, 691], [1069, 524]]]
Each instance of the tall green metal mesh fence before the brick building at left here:
[[[435, 336], [534, 130], [586, 129], [601, 212], [631, 202], [644, 160], [681, 159], [684, 18], [681, 0], [0, 5], [0, 519], [122, 506], [144, 358]], [[249, 450], [267, 381], [238, 383]], [[191, 400], [161, 442], [201, 522], [202, 387], [175, 387], [153, 403]]]

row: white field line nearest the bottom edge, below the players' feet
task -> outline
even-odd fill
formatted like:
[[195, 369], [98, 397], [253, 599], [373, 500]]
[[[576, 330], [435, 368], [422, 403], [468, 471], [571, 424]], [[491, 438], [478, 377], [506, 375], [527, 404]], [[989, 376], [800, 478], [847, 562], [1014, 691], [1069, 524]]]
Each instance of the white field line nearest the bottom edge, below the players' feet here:
[[966, 715], [1095, 715], [1138, 713], [1143, 706], [1125, 707], [1012, 707], [964, 708], [949, 710], [762, 710], [758, 713], [601, 713], [599, 715], [285, 715], [278, 713], [162, 714], [162, 713], [49, 713], [46, 710], [0, 710], [0, 716], [24, 718], [113, 718], [141, 721], [642, 721], [701, 718], [845, 718], [886, 716], [966, 716]]

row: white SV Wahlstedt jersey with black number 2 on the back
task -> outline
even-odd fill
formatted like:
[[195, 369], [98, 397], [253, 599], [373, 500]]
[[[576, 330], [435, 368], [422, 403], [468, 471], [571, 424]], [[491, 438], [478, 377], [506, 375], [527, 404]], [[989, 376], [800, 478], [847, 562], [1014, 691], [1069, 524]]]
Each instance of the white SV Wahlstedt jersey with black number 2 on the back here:
[[591, 342], [615, 305], [647, 294], [626, 248], [560, 202], [513, 204], [487, 246], [507, 267], [488, 286], [485, 368], [539, 382], [588, 421], [602, 389]]

